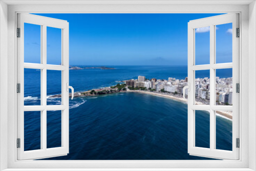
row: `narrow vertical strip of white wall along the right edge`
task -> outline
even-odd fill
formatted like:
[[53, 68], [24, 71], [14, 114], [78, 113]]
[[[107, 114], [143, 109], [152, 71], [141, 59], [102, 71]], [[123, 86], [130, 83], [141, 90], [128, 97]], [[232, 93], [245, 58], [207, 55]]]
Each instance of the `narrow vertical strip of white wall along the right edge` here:
[[249, 5], [249, 130], [254, 130], [254, 134], [249, 134], [249, 168], [256, 170], [256, 6], [255, 2]]

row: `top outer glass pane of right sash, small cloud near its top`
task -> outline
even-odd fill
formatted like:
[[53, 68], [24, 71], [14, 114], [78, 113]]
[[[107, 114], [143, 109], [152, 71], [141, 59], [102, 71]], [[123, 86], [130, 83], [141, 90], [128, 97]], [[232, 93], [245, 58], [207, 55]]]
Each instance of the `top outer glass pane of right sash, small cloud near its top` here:
[[232, 62], [232, 23], [216, 26], [216, 63]]

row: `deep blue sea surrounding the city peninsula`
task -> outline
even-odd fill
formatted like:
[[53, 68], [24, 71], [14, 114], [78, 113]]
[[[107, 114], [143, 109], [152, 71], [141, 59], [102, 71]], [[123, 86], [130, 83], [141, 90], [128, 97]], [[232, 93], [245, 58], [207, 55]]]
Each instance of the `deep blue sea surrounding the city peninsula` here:
[[[184, 79], [186, 66], [106, 66], [70, 70], [75, 91], [113, 86], [126, 79]], [[25, 105], [40, 105], [40, 70], [25, 69]], [[232, 69], [217, 71], [232, 77]], [[200, 71], [196, 77], [209, 77]], [[47, 71], [47, 95], [61, 93], [61, 72]], [[47, 104], [61, 104], [48, 98]], [[25, 151], [40, 149], [40, 112], [25, 112]], [[187, 104], [138, 93], [70, 99], [70, 153], [48, 160], [197, 160], [187, 153]], [[232, 121], [216, 117], [217, 149], [232, 149]], [[61, 146], [61, 111], [47, 112], [47, 147]], [[209, 147], [209, 113], [196, 111], [196, 146]]]

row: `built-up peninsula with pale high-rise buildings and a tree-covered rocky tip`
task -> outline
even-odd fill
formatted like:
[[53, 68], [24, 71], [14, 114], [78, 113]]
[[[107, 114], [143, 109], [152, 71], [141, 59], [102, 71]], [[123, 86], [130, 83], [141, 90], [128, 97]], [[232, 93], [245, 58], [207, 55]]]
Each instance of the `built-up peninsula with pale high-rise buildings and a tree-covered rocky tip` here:
[[[98, 96], [118, 92], [134, 92], [166, 97], [187, 103], [187, 91], [185, 91], [186, 99], [183, 98], [183, 87], [187, 85], [187, 77], [185, 79], [169, 77], [168, 80], [165, 80], [155, 78], [146, 79], [144, 76], [138, 76], [138, 79], [123, 80], [119, 82], [120, 83], [117, 83], [116, 86], [112, 87], [92, 89], [85, 92], [75, 92], [74, 97]], [[207, 77], [196, 79], [196, 104], [209, 105], [209, 82], [210, 79]], [[232, 105], [232, 77], [216, 77], [216, 83], [216, 105]], [[59, 97], [61, 97], [61, 94], [50, 96], [50, 98]], [[232, 119], [231, 112], [217, 111], [217, 113]]]

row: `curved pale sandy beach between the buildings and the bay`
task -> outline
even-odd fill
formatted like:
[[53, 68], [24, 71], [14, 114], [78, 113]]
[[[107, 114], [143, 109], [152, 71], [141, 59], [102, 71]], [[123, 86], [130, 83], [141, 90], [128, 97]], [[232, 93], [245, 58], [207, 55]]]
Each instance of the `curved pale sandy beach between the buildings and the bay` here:
[[[153, 96], [160, 96], [160, 97], [166, 97], [170, 98], [176, 101], [184, 102], [187, 103], [187, 99], [184, 99], [181, 96], [174, 96], [174, 95], [167, 95], [167, 94], [162, 94], [162, 93], [155, 93], [155, 92], [147, 92], [147, 91], [141, 91], [141, 90], [127, 90], [126, 92], [134, 92], [134, 93], [143, 93], [143, 94], [150, 94]], [[196, 104], [203, 105], [202, 102], [196, 101]], [[217, 111], [217, 114], [219, 114], [222, 117], [228, 118], [232, 120], [232, 112], [226, 112], [226, 111]]]

